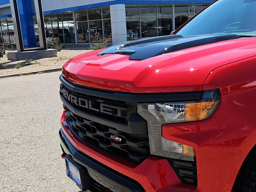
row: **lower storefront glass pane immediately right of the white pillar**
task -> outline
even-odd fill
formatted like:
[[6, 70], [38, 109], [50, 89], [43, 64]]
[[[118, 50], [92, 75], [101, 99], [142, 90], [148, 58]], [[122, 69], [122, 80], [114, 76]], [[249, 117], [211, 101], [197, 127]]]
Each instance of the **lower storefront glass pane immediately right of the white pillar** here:
[[127, 40], [135, 40], [140, 38], [140, 18], [126, 18]]

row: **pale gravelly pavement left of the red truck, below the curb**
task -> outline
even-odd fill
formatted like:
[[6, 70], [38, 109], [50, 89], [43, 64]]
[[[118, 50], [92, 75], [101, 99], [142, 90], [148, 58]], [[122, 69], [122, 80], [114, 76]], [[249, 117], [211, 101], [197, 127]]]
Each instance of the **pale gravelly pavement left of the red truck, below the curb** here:
[[0, 79], [0, 192], [78, 192], [60, 158], [60, 72]]

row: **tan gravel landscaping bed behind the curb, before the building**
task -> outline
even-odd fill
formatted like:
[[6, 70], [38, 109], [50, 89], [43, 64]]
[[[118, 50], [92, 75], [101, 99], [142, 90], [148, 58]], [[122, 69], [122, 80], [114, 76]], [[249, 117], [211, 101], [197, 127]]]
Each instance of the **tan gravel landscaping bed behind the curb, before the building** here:
[[[64, 50], [58, 52], [58, 56], [52, 58], [11, 61], [4, 56], [4, 58], [0, 58], [0, 76], [61, 68], [70, 58], [90, 51], [88, 50], [88, 46], [67, 45]], [[21, 63], [20, 68], [16, 68], [19, 63]]]

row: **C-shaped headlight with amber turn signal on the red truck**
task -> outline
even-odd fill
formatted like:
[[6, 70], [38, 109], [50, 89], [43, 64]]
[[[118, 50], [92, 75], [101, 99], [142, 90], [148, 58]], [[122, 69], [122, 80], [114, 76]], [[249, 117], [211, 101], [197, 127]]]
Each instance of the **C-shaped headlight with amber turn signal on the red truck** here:
[[198, 101], [138, 104], [138, 113], [148, 122], [151, 154], [193, 161], [194, 149], [162, 138], [162, 125], [205, 120], [212, 116], [219, 102], [220, 90], [216, 89], [204, 91]]

